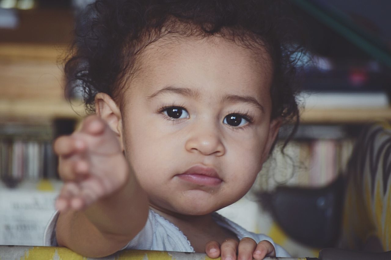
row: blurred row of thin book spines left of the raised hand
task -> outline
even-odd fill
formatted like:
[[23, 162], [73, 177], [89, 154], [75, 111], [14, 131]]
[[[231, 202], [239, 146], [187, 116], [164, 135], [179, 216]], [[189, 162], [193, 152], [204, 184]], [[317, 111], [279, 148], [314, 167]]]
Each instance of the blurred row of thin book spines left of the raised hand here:
[[9, 187], [22, 180], [57, 178], [50, 124], [0, 126], [0, 179]]

